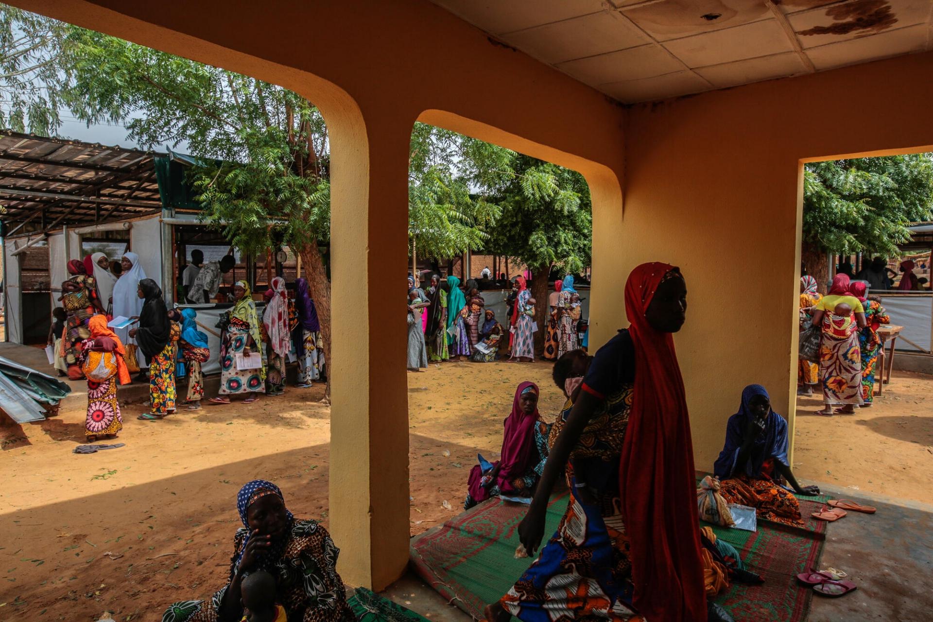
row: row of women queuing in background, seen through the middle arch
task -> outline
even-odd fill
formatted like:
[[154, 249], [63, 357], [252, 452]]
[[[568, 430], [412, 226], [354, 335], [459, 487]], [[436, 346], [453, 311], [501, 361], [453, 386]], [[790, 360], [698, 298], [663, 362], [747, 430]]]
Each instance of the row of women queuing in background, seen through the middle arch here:
[[[554, 360], [564, 352], [578, 348], [577, 323], [580, 301], [574, 289], [574, 277], [555, 283], [549, 297], [550, 321], [545, 344], [545, 358]], [[469, 279], [448, 276], [441, 282], [438, 274], [430, 277], [423, 289], [408, 277], [408, 355], [410, 371], [427, 367], [428, 362], [470, 360], [491, 363], [508, 349], [509, 361], [535, 360], [534, 334], [536, 299], [531, 297], [523, 275], [513, 280], [508, 297], [507, 328], [486, 309], [479, 284]]]

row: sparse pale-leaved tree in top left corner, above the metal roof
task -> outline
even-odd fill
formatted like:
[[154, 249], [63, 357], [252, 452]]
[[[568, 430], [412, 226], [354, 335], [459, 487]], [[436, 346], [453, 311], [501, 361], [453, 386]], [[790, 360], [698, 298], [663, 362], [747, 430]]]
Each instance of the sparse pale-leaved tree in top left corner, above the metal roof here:
[[0, 128], [54, 136], [62, 93], [70, 84], [67, 27], [61, 21], [0, 5]]

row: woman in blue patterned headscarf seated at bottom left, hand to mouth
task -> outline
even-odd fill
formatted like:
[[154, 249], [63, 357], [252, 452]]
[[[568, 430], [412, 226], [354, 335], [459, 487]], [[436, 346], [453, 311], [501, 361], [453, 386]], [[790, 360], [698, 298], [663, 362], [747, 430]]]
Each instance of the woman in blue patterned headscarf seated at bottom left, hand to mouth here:
[[162, 622], [221, 622], [243, 617], [240, 585], [258, 570], [272, 574], [279, 604], [289, 620], [349, 622], [355, 616], [346, 601], [337, 556], [327, 530], [313, 520], [295, 518], [282, 491], [272, 482], [254, 479], [236, 499], [243, 528], [233, 537], [230, 580], [211, 601], [181, 601], [170, 606]]

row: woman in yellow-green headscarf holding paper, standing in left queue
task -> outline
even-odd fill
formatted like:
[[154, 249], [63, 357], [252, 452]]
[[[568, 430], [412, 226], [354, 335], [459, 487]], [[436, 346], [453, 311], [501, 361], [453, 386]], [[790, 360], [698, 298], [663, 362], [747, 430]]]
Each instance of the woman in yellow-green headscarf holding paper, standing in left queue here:
[[253, 394], [244, 404], [258, 400], [256, 393], [266, 392], [266, 365], [262, 360], [259, 316], [249, 284], [237, 281], [233, 285], [236, 304], [230, 310], [230, 324], [220, 344], [220, 391], [212, 397], [214, 404], [230, 404], [230, 397], [221, 395]]

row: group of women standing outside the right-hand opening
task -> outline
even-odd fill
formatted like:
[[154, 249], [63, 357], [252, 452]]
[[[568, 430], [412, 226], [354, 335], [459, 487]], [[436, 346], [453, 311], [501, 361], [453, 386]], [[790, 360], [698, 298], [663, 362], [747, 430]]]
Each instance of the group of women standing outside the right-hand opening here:
[[801, 277], [801, 329], [818, 330], [819, 341], [817, 361], [801, 358], [798, 393], [812, 395], [818, 385], [823, 397], [818, 412], [828, 417], [851, 414], [856, 406], [870, 407], [883, 345], [878, 328], [889, 323], [880, 299], [868, 295], [866, 283], [837, 274], [829, 294], [821, 297], [815, 279]]

